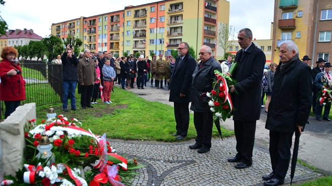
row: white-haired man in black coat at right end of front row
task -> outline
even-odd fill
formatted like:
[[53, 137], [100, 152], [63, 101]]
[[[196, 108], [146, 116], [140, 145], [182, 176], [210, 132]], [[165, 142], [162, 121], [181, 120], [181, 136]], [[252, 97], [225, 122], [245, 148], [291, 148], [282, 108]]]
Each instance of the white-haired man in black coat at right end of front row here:
[[272, 173], [262, 178], [268, 186], [283, 184], [290, 165], [293, 134], [295, 130], [301, 134], [307, 123], [312, 99], [311, 68], [300, 61], [298, 46], [287, 40], [279, 47], [281, 62], [274, 74], [265, 124], [270, 130]]

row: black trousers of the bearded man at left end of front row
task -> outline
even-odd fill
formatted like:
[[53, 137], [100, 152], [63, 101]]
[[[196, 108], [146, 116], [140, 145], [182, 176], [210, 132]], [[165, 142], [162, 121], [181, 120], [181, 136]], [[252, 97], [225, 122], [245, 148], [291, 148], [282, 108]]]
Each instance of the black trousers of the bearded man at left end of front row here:
[[176, 133], [187, 136], [189, 128], [189, 103], [174, 102], [174, 116], [176, 122]]

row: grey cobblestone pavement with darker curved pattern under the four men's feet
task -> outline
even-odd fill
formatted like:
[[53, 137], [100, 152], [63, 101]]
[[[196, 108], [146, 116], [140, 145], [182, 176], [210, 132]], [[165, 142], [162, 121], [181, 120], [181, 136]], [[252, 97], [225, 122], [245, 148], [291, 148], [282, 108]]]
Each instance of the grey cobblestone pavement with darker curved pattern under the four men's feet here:
[[[235, 156], [235, 138], [212, 140], [210, 152], [191, 150], [195, 141], [180, 143], [138, 142], [109, 140], [117, 153], [135, 157], [146, 165], [137, 171], [132, 185], [263, 185], [261, 178], [271, 172], [268, 151], [255, 147], [253, 165], [246, 169], [234, 168], [227, 158]], [[117, 149], [118, 148], [118, 149]], [[285, 184], [290, 183], [290, 172]], [[321, 176], [302, 165], [297, 165], [293, 182]]]

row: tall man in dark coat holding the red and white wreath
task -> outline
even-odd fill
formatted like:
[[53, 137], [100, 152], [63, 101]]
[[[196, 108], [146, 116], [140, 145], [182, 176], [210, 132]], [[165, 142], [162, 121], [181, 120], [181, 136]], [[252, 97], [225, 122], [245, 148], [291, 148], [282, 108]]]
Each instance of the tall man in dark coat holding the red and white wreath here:
[[[228, 162], [240, 162], [235, 168], [242, 169], [253, 163], [256, 120], [261, 115], [262, 77], [265, 65], [265, 55], [251, 42], [253, 33], [249, 28], [239, 31], [238, 42], [242, 48], [235, 56], [238, 66], [232, 74], [239, 83], [230, 85], [229, 89], [234, 106], [233, 120], [236, 138], [234, 158]], [[249, 70], [250, 69], [250, 70]], [[230, 76], [229, 72], [225, 73]], [[235, 94], [237, 92], [238, 94]]]

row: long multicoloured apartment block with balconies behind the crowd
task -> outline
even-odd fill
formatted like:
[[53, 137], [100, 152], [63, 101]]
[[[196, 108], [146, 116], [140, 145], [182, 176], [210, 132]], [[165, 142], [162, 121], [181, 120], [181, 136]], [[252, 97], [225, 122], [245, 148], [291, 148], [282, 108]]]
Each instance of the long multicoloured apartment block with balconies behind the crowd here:
[[[226, 0], [166, 0], [52, 24], [51, 30], [55, 31], [51, 34], [61, 38], [75, 35], [83, 40], [83, 48], [112, 52], [113, 56], [124, 52], [144, 56], [151, 52], [166, 54], [186, 41], [196, 51], [203, 44], [209, 45], [212, 56], [221, 58], [223, 50], [217, 44], [217, 31], [220, 24], [228, 22]], [[72, 26], [69, 29], [73, 24], [75, 29], [79, 24], [79, 30], [73, 30]]]

